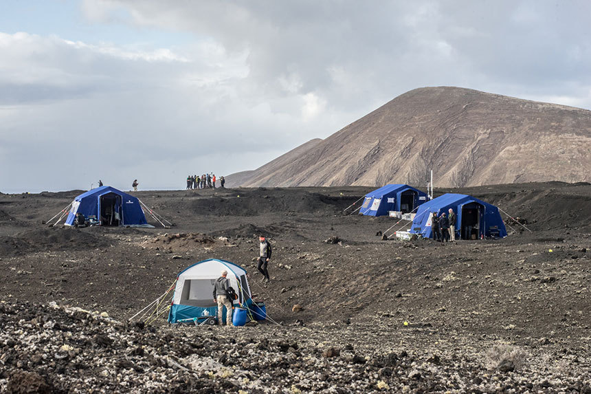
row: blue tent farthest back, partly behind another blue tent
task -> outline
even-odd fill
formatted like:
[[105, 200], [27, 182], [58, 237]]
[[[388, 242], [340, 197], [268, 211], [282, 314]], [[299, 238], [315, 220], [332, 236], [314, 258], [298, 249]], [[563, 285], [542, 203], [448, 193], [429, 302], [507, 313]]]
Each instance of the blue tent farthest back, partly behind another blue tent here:
[[421, 190], [403, 184], [386, 185], [366, 194], [359, 213], [369, 216], [388, 215], [390, 210], [408, 213], [425, 201], [427, 193]]

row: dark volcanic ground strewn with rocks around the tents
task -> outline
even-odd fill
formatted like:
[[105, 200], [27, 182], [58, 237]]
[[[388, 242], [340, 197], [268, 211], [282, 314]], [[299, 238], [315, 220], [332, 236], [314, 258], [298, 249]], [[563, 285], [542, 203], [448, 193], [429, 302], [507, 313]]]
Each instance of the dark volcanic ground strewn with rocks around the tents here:
[[[134, 193], [168, 229], [50, 228], [82, 191], [0, 194], [0, 391], [591, 393], [591, 185], [436, 190], [531, 229], [445, 245], [383, 241], [397, 221], [342, 213], [368, 190]], [[210, 257], [247, 268], [281, 325], [125, 323]]]

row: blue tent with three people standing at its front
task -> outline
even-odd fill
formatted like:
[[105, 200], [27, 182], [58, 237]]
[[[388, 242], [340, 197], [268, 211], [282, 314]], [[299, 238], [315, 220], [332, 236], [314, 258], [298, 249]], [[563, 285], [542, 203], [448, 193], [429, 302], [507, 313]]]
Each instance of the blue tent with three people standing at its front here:
[[[456, 212], [456, 239], [507, 236], [507, 230], [499, 208], [469, 195], [445, 194], [419, 207], [410, 232], [422, 234], [425, 238], [432, 236], [432, 212], [441, 216], [448, 214], [449, 208]], [[449, 215], [449, 214], [448, 214]]]

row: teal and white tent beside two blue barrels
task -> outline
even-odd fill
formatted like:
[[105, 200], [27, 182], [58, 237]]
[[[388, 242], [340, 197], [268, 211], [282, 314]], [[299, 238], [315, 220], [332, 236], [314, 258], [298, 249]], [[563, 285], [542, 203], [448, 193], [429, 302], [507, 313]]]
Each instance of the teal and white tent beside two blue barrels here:
[[[214, 283], [223, 270], [227, 271], [230, 286], [238, 294], [234, 305], [247, 305], [247, 307], [252, 305], [252, 295], [246, 270], [243, 267], [220, 259], [203, 260], [190, 265], [177, 276], [168, 322], [176, 323], [179, 320], [199, 316], [216, 316], [217, 304], [213, 299]], [[223, 311], [225, 320], [225, 308]]]

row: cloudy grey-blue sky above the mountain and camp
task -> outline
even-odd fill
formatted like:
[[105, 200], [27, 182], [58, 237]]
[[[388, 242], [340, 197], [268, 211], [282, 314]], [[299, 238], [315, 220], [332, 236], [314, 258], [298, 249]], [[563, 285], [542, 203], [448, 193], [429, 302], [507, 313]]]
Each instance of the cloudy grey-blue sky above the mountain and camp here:
[[591, 2], [0, 1], [0, 192], [182, 189], [400, 94], [591, 109]]

